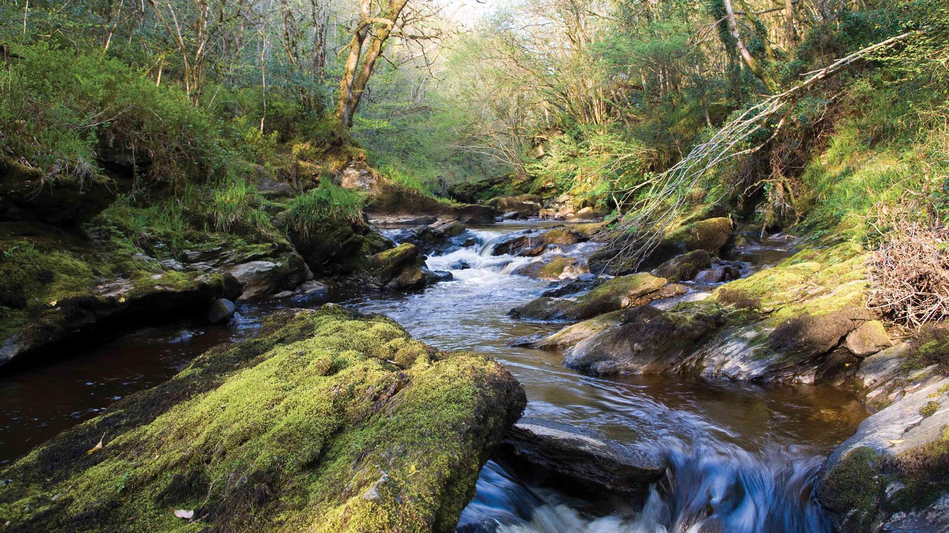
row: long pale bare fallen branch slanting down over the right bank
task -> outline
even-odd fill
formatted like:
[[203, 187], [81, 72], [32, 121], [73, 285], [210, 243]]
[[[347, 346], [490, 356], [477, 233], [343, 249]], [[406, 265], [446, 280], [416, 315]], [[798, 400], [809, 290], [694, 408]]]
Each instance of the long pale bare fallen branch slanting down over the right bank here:
[[[685, 199], [687, 191], [696, 188], [699, 180], [719, 163], [738, 156], [753, 154], [770, 142], [784, 125], [793, 103], [815, 84], [852, 64], [859, 63], [874, 52], [894, 46], [903, 39], [918, 33], [921, 31], [902, 33], [857, 50], [824, 68], [807, 73], [805, 75], [807, 78], [802, 82], [749, 107], [739, 117], [722, 126], [707, 142], [698, 144], [688, 156], [683, 157], [669, 170], [660, 175], [651, 176], [635, 187], [615, 192], [614, 197], [619, 200], [617, 203], [620, 211], [630, 214], [606, 236], [614, 265], [639, 267], [653, 248], [661, 242], [663, 230], [684, 210], [687, 203]], [[755, 133], [765, 129], [772, 119], [778, 117], [780, 119], [772, 128], [772, 135], [769, 138], [754, 147], [736, 149], [739, 143], [752, 138]], [[722, 196], [731, 193], [732, 191], [725, 191]]]

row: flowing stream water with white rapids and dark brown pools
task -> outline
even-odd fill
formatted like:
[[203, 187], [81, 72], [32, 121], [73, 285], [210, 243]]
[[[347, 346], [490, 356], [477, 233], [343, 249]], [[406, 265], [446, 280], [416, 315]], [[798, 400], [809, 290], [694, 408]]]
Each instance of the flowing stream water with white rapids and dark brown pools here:
[[[491, 255], [495, 239], [522, 229], [502, 224], [469, 230], [463, 237], [473, 246], [430, 257], [428, 267], [450, 270], [452, 281], [344, 303], [386, 314], [438, 348], [491, 354], [524, 385], [526, 414], [604, 432], [666, 462], [669, 473], [640, 508], [606, 495], [577, 499], [490, 461], [459, 531], [828, 530], [811, 487], [830, 450], [866, 415], [852, 395], [829, 387], [691, 377], [593, 377], [564, 367], [557, 354], [507, 346], [511, 338], [562, 326], [506, 315], [549, 285], [512, 274], [534, 259]], [[757, 259], [778, 255], [768, 249]], [[741, 259], [756, 258], [753, 253]], [[321, 303], [242, 305], [230, 327], [178, 323], [144, 329], [0, 377], [0, 461], [101, 413], [122, 395], [173, 376], [215, 343], [252, 335], [275, 308]]]

